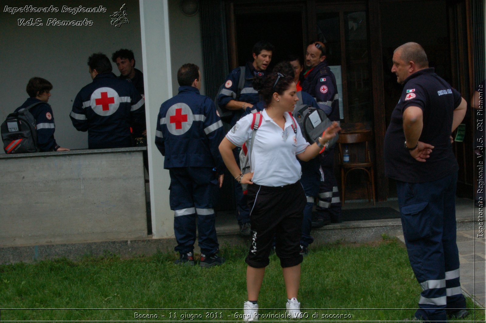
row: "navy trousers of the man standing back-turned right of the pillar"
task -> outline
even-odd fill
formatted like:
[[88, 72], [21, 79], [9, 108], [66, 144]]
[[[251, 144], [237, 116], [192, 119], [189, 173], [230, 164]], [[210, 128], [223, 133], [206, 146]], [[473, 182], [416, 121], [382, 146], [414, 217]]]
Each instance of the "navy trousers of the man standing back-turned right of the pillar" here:
[[170, 168], [171, 186], [169, 202], [174, 210], [174, 233], [181, 254], [192, 252], [196, 241], [196, 218], [199, 247], [204, 255], [218, 251], [216, 237], [214, 197], [218, 179], [208, 167]]

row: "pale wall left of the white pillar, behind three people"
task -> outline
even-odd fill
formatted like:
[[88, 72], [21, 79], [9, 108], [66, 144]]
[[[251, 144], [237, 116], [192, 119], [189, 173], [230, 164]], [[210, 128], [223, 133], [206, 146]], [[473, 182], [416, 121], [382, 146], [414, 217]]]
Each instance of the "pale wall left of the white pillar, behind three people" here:
[[[129, 24], [120, 28], [110, 24], [109, 17], [126, 3]], [[5, 6], [58, 7], [56, 13], [16, 13], [4, 11]], [[105, 13], [61, 13], [63, 6], [106, 8]], [[17, 19], [41, 18], [42, 26], [18, 26]], [[48, 18], [58, 20], [93, 21], [92, 26], [47, 26]], [[87, 148], [87, 133], [78, 132], [72, 126], [69, 112], [79, 90], [92, 80], [88, 74], [87, 58], [94, 52], [103, 52], [111, 60], [111, 54], [120, 48], [131, 49], [135, 54], [136, 67], [142, 70], [140, 14], [138, 0], [36, 0], [1, 1], [0, 6], [0, 59], [3, 82], [0, 86], [0, 120], [13, 112], [28, 98], [25, 91], [31, 77], [38, 76], [52, 83], [49, 104], [54, 112], [59, 145], [70, 149]], [[113, 72], [120, 75], [112, 63]], [[143, 71], [143, 70], [142, 70]], [[2, 150], [3, 153], [3, 150]]]

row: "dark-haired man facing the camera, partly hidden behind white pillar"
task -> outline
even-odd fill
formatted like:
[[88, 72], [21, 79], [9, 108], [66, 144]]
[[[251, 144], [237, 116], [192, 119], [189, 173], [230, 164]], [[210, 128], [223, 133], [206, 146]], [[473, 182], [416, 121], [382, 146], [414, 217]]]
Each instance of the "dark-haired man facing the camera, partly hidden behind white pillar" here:
[[118, 78], [131, 82], [142, 95], [142, 98], [145, 98], [143, 73], [139, 69], [135, 68], [135, 57], [133, 55], [133, 51], [127, 49], [115, 51], [111, 55], [111, 61], [117, 65], [118, 70], [120, 71], [120, 76]]

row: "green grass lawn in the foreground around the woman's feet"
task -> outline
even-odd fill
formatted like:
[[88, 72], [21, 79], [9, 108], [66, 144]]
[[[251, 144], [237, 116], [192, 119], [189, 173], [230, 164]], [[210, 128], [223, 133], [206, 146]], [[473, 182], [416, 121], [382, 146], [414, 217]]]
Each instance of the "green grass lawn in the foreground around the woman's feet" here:
[[[161, 253], [1, 265], [0, 321], [239, 322], [246, 252], [224, 248], [226, 263], [209, 269], [176, 266], [175, 254]], [[272, 255], [259, 299], [259, 313], [267, 316], [260, 321], [288, 320], [281, 272]], [[401, 321], [413, 317], [420, 291], [406, 250], [385, 239], [312, 248], [302, 263], [299, 301], [308, 314], [303, 321]], [[469, 311], [464, 322], [485, 321], [484, 310]]]

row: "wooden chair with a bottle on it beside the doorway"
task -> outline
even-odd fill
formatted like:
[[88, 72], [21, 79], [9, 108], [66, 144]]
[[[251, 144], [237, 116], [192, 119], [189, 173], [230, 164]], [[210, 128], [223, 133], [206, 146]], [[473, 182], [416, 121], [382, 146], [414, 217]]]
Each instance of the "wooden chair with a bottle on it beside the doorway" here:
[[[373, 133], [371, 131], [356, 132], [356, 133], [340, 133], [339, 139], [337, 140], [339, 148], [339, 163], [341, 166], [341, 203], [344, 205], [344, 197], [346, 193], [346, 180], [347, 175], [352, 170], [364, 170], [367, 175], [366, 179], [366, 190], [368, 192], [368, 202], [371, 201], [370, 195], [370, 183], [371, 183], [371, 193], [373, 196], [373, 205], [375, 205], [375, 175], [373, 172], [373, 162], [370, 158], [368, 142], [373, 139]], [[363, 145], [364, 143], [364, 161], [349, 159], [349, 162], [345, 163], [343, 161], [343, 151], [345, 146], [351, 148], [355, 144]], [[351, 157], [351, 156], [350, 156]]]

